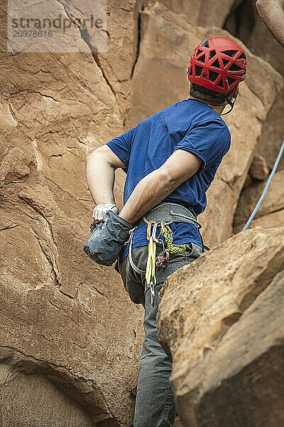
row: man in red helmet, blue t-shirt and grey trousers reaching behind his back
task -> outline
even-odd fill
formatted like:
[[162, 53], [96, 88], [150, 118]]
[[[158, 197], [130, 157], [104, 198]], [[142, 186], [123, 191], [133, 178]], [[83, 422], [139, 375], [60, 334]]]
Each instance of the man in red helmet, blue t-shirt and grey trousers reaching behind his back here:
[[[172, 364], [155, 322], [158, 292], [168, 275], [204, 252], [197, 215], [206, 207], [205, 193], [230, 147], [231, 135], [220, 116], [233, 109], [245, 75], [246, 55], [237, 43], [223, 37], [202, 41], [187, 70], [190, 97], [87, 157], [96, 206], [84, 251], [102, 265], [117, 259], [114, 268], [131, 301], [145, 309], [134, 427], [175, 421]], [[113, 194], [117, 168], [126, 173], [120, 213]]]

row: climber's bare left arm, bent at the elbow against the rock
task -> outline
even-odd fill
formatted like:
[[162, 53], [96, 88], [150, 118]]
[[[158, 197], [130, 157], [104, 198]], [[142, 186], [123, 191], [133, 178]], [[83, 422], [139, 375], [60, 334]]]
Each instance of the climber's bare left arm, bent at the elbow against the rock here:
[[89, 191], [96, 205], [115, 204], [114, 172], [124, 163], [107, 145], [95, 149], [86, 159], [86, 177]]

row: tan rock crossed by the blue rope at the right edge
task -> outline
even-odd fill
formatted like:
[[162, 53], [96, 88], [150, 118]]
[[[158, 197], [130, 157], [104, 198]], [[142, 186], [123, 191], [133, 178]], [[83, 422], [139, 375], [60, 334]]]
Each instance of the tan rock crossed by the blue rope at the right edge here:
[[[256, 213], [251, 227], [261, 226], [271, 228], [283, 226], [284, 221], [284, 171], [276, 172], [269, 186], [268, 192]], [[238, 233], [249, 219], [258, 199], [261, 197], [265, 182], [254, 183], [241, 193], [239, 204], [234, 218], [234, 232]], [[273, 222], [275, 221], [275, 222]]]

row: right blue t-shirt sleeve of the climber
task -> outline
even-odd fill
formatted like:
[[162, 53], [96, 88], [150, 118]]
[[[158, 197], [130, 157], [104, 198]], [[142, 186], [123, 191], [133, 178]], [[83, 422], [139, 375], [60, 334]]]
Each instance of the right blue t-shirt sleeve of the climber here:
[[176, 145], [176, 149], [184, 149], [195, 154], [202, 160], [200, 171], [220, 163], [229, 151], [231, 134], [226, 125], [209, 121], [198, 123], [192, 127], [185, 137]]

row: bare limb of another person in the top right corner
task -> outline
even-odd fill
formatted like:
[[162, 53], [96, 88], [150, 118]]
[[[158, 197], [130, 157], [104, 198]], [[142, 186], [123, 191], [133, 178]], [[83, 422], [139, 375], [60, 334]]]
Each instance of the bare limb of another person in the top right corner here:
[[268, 30], [284, 47], [284, 0], [257, 0], [256, 9]]

